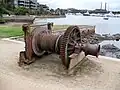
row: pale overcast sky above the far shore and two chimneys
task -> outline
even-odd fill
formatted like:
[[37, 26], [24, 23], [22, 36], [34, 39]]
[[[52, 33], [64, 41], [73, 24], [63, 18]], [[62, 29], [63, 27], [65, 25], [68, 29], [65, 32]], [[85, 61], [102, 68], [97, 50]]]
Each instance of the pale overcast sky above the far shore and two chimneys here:
[[120, 10], [120, 0], [38, 0], [41, 4], [46, 4], [50, 8], [76, 8], [76, 9], [96, 9], [103, 8], [107, 3], [107, 10]]

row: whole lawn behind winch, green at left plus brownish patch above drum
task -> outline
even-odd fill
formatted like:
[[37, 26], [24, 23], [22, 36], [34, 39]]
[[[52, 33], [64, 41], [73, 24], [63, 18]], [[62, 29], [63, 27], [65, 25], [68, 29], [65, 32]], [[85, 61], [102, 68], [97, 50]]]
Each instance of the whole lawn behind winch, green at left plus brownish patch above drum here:
[[[68, 25], [54, 25], [53, 30], [65, 30]], [[0, 25], [0, 38], [23, 36], [22, 26]]]

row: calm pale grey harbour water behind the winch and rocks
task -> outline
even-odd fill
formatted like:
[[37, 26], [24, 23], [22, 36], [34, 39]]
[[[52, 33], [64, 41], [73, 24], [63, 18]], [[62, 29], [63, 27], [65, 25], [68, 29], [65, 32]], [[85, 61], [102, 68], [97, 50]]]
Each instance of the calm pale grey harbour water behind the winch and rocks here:
[[[98, 34], [116, 34], [120, 33], [120, 18], [109, 18], [104, 20], [103, 17], [92, 17], [92, 16], [75, 16], [67, 15], [66, 18], [52, 18], [52, 19], [37, 19], [36, 23], [54, 22], [56, 25], [95, 25], [96, 33]], [[120, 48], [120, 41], [104, 41], [104, 44], [114, 44]]]

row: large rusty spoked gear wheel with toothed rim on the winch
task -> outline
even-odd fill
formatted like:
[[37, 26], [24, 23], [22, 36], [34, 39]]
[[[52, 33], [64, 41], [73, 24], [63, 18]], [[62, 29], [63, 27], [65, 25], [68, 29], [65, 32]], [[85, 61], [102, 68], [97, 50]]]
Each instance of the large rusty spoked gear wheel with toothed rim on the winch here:
[[62, 36], [60, 45], [60, 57], [63, 64], [69, 68], [69, 56], [74, 53], [75, 46], [81, 43], [80, 30], [77, 26], [70, 26]]

